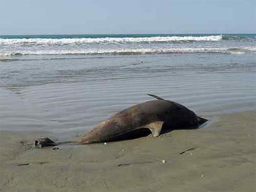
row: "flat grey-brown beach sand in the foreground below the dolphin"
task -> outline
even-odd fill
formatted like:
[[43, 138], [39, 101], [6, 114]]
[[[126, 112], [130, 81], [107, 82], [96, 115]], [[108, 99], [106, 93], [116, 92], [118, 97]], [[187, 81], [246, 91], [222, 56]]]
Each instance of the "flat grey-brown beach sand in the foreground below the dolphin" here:
[[255, 191], [255, 111], [215, 120], [158, 138], [61, 150], [20, 143], [46, 132], [1, 131], [0, 191]]

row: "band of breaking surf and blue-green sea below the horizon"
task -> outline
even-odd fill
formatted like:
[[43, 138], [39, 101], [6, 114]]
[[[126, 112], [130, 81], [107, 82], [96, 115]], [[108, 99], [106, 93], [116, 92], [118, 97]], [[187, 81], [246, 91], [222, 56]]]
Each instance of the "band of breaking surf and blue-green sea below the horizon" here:
[[0, 36], [0, 56], [255, 53], [255, 35]]

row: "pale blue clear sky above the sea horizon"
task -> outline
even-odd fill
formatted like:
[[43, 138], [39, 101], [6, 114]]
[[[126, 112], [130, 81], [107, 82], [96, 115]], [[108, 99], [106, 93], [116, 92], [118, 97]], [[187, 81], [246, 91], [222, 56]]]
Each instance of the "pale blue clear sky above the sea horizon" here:
[[0, 35], [256, 33], [255, 0], [0, 0]]

